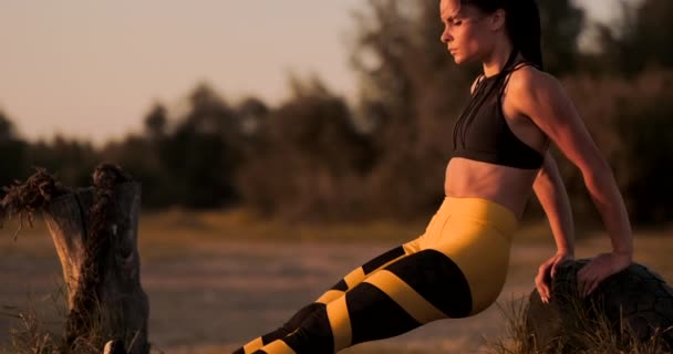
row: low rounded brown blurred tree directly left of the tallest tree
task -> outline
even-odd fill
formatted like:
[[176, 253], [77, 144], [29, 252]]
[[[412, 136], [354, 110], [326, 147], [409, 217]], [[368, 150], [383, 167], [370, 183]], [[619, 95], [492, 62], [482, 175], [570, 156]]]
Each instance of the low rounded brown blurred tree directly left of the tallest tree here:
[[293, 96], [259, 126], [238, 175], [244, 199], [286, 219], [339, 219], [362, 211], [372, 150], [349, 107], [318, 79], [290, 80]]

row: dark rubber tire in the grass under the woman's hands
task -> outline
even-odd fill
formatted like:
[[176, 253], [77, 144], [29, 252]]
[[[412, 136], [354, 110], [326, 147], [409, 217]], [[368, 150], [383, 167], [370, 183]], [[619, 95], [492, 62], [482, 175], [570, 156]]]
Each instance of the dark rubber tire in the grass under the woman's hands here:
[[588, 262], [583, 259], [559, 267], [549, 304], [541, 302], [537, 289], [531, 292], [526, 313], [527, 333], [535, 342], [531, 346], [541, 352], [562, 348], [562, 353], [576, 353], [582, 345], [578, 332], [594, 333], [596, 326], [607, 325], [618, 339], [628, 335], [645, 343], [658, 336], [666, 352], [673, 350], [673, 288], [646, 267], [632, 263], [582, 299], [577, 271]]

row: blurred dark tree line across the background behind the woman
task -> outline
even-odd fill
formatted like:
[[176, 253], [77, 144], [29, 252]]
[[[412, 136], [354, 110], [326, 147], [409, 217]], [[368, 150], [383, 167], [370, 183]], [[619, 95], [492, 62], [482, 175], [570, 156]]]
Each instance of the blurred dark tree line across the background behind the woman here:
[[[615, 1], [617, 2], [617, 1]], [[632, 220], [673, 216], [673, 2], [621, 4], [594, 23], [570, 0], [538, 0], [546, 70], [557, 75], [611, 164]], [[229, 102], [206, 83], [185, 112], [156, 103], [144, 131], [94, 147], [55, 136], [28, 142], [0, 114], [0, 185], [33, 166], [65, 185], [90, 185], [103, 160], [143, 184], [146, 209], [245, 206], [289, 220], [411, 219], [444, 196], [452, 131], [480, 67], [457, 67], [438, 41], [435, 0], [369, 0], [353, 13], [350, 61], [358, 101], [319, 77], [291, 77], [289, 97]], [[580, 35], [592, 33], [592, 49]], [[577, 216], [593, 206], [582, 176], [558, 155]], [[541, 210], [532, 198], [528, 216]]]

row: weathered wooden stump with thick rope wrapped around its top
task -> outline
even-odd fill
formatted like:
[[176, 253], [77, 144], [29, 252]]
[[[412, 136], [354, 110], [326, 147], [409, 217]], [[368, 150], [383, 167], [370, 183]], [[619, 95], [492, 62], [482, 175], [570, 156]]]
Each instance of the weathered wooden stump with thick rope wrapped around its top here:
[[141, 185], [108, 164], [95, 169], [93, 180], [94, 187], [69, 190], [40, 171], [8, 189], [3, 207], [31, 217], [42, 210], [68, 290], [61, 351], [101, 353], [114, 341], [114, 353], [146, 354], [149, 303], [137, 251]]

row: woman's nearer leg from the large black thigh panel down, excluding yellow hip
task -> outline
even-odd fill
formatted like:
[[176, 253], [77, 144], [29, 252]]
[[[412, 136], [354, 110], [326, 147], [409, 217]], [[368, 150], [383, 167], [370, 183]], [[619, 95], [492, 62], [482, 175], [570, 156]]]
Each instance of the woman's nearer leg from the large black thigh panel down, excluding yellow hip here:
[[253, 353], [335, 353], [435, 320], [467, 316], [470, 311], [469, 285], [458, 266], [443, 252], [426, 249], [373, 273], [311, 312], [291, 334]]

